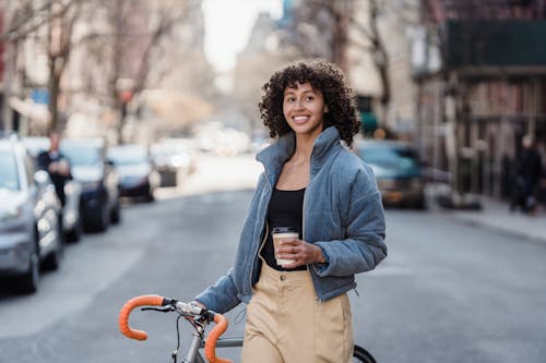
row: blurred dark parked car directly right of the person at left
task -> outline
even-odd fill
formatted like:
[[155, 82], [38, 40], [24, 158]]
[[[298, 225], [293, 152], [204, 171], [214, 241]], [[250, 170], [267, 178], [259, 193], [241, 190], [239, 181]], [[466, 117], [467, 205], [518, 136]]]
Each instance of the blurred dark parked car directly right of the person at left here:
[[110, 222], [118, 223], [121, 217], [119, 177], [106, 159], [104, 140], [62, 140], [60, 150], [70, 160], [72, 177], [81, 184], [84, 229], [106, 231]]

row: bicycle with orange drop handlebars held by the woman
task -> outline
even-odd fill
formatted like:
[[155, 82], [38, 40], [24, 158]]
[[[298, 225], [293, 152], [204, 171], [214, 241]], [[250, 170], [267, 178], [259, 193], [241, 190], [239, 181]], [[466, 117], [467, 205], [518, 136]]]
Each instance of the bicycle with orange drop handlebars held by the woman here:
[[[177, 348], [171, 353], [171, 362], [176, 363], [178, 359], [178, 349], [180, 348], [180, 331], [179, 322], [180, 318], [185, 318], [194, 328], [193, 338], [191, 344], [186, 352], [186, 358], [183, 363], [205, 363], [203, 355], [201, 355], [200, 349], [204, 349], [204, 355], [210, 363], [232, 363], [229, 360], [225, 360], [216, 356], [216, 347], [242, 347], [242, 338], [221, 338], [221, 336], [226, 331], [228, 320], [227, 318], [213, 311], [202, 308], [192, 304], [191, 302], [181, 302], [176, 299], [164, 298], [161, 295], [140, 295], [135, 297], [123, 304], [121, 311], [119, 312], [119, 329], [121, 332], [131, 339], [135, 340], [146, 340], [147, 334], [143, 330], [133, 329], [129, 326], [129, 315], [133, 308], [138, 306], [142, 307], [142, 311], [158, 311], [158, 312], [176, 312], [178, 313], [177, 318]], [[161, 307], [152, 307], [161, 306]], [[215, 323], [214, 328], [209, 332], [206, 338], [205, 329], [209, 324]], [[355, 344], [353, 351], [353, 362], [360, 363], [376, 363], [373, 356], [363, 347]]]

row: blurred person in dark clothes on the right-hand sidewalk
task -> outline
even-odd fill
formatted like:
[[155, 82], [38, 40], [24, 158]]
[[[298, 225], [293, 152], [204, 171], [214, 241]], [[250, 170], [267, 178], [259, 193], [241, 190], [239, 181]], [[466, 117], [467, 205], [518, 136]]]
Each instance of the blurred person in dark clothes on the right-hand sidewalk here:
[[515, 159], [513, 191], [510, 210], [521, 209], [524, 213], [536, 210], [536, 192], [542, 179], [542, 158], [535, 147], [533, 137], [522, 138], [522, 152]]

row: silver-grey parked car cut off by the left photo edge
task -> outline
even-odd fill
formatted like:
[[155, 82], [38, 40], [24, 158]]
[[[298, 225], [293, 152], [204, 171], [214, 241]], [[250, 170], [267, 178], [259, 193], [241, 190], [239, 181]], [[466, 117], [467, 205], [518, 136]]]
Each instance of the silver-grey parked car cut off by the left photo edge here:
[[61, 206], [49, 176], [36, 170], [20, 140], [0, 140], [0, 276], [38, 289], [40, 266], [57, 269], [63, 252]]

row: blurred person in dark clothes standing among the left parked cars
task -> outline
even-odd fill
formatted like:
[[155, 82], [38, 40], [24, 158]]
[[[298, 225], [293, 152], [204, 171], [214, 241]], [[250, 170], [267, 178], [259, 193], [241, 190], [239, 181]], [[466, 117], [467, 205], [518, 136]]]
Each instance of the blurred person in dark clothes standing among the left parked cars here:
[[55, 185], [57, 196], [64, 206], [67, 196], [64, 194], [64, 183], [72, 179], [70, 164], [59, 150], [61, 134], [58, 131], [49, 133], [49, 149], [38, 154], [38, 167], [49, 173], [49, 178]]

